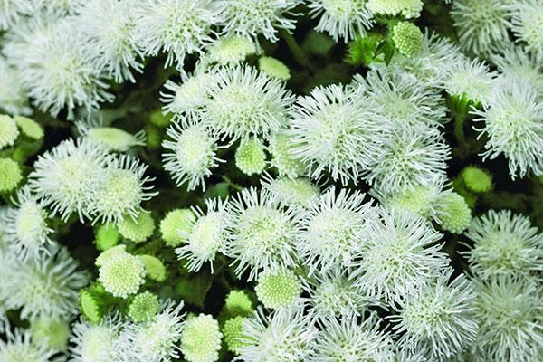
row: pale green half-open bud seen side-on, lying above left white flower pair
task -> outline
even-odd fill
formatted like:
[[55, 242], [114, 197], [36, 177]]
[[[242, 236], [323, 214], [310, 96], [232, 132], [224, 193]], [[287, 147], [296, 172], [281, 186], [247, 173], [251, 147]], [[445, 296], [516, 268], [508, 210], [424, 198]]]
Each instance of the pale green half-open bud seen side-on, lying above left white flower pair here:
[[126, 152], [131, 147], [145, 145], [144, 134], [132, 135], [124, 129], [117, 129], [115, 127], [95, 127], [88, 129], [87, 138], [115, 152]]

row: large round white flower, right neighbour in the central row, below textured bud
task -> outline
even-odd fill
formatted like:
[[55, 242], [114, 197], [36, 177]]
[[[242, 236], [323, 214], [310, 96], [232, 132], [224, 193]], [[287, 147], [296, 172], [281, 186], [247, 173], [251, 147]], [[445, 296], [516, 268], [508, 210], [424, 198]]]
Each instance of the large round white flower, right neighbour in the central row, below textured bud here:
[[354, 279], [368, 296], [397, 301], [415, 293], [447, 265], [439, 252], [442, 234], [423, 218], [402, 210], [379, 211], [360, 235]]

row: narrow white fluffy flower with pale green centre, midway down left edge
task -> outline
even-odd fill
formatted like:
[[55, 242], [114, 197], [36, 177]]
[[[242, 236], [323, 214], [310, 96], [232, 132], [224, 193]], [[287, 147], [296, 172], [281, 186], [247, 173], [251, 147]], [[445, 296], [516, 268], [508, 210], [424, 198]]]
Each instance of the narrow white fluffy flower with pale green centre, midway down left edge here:
[[23, 261], [38, 258], [52, 245], [52, 229], [47, 226], [44, 205], [30, 193], [29, 187], [24, 187], [17, 192], [14, 206], [0, 214], [5, 221], [4, 240]]

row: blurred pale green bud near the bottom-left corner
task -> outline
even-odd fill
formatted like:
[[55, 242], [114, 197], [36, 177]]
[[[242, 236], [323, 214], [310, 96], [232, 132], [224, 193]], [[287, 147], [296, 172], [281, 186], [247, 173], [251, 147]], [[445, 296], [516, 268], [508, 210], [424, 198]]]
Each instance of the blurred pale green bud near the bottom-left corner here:
[[66, 352], [70, 338], [70, 323], [67, 320], [42, 316], [30, 326], [33, 342], [51, 349]]

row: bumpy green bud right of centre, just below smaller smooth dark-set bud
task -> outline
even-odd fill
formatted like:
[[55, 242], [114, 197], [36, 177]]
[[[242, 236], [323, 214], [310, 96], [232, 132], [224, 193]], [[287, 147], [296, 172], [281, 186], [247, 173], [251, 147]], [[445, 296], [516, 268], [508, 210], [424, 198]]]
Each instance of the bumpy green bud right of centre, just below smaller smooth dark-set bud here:
[[472, 222], [472, 210], [461, 195], [453, 192], [443, 197], [443, 204], [437, 210], [437, 217], [443, 230], [462, 233]]

